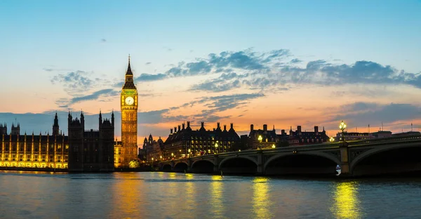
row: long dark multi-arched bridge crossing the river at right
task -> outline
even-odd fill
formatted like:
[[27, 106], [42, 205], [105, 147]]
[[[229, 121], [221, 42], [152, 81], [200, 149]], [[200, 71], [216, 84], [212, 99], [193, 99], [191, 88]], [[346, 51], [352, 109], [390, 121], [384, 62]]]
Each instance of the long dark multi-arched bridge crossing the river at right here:
[[255, 175], [379, 175], [421, 171], [421, 135], [243, 150], [161, 161], [161, 171]]

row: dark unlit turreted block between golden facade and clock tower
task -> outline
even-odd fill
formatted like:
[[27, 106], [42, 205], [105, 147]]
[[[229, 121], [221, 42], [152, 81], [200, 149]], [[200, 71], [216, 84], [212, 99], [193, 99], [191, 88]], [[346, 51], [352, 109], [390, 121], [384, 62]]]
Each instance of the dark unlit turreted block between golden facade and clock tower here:
[[69, 112], [69, 171], [114, 171], [114, 112], [111, 121], [99, 115], [99, 130], [85, 131], [83, 112]]

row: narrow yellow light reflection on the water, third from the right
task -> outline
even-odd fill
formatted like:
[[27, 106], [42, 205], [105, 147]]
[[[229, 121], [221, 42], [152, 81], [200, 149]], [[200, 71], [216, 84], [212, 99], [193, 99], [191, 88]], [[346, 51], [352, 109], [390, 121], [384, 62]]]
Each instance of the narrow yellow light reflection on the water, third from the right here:
[[212, 175], [210, 183], [210, 206], [213, 218], [223, 218], [224, 205], [222, 204], [222, 178], [220, 175]]

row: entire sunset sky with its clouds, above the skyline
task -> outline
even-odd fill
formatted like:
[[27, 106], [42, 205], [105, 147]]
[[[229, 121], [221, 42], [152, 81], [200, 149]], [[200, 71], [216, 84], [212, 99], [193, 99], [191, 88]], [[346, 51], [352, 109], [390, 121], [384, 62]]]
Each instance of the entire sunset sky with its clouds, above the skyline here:
[[138, 144], [191, 121], [421, 129], [421, 1], [0, 1], [0, 123], [116, 114], [131, 55]]

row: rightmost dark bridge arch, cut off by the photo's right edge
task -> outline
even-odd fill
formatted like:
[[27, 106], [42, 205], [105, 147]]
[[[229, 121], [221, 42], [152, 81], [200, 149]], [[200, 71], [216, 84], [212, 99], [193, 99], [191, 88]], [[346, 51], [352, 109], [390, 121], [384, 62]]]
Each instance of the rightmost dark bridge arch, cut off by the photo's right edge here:
[[419, 154], [420, 142], [376, 145], [352, 159], [349, 171], [356, 176], [421, 171]]

